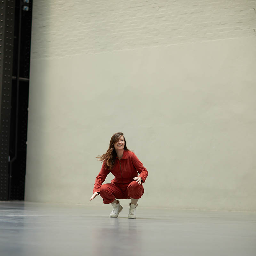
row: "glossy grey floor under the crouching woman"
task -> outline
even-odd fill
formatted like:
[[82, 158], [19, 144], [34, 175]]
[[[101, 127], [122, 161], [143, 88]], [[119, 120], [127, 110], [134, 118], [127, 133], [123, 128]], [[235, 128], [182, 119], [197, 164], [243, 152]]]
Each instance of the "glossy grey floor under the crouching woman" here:
[[123, 206], [0, 202], [0, 255], [256, 255], [256, 213]]

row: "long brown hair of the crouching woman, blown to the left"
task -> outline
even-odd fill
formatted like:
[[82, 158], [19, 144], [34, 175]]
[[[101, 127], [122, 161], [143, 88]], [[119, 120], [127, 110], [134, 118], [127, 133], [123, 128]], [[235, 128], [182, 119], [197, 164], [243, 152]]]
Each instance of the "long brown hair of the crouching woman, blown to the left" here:
[[[103, 154], [102, 156], [96, 156], [96, 158], [98, 158], [99, 161], [102, 161], [102, 162], [105, 161], [105, 164], [106, 164], [108, 170], [111, 170], [113, 168], [113, 166], [115, 165], [115, 160], [116, 160], [117, 154], [116, 154], [114, 144], [120, 139], [121, 136], [124, 137], [123, 132], [116, 132], [115, 134], [113, 134], [110, 139], [107, 152], [105, 154]], [[125, 138], [124, 138], [124, 150], [129, 150], [126, 147]]]

